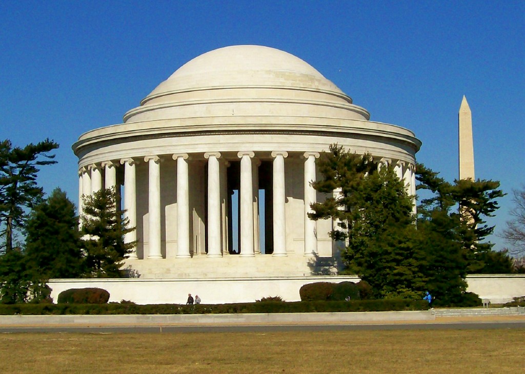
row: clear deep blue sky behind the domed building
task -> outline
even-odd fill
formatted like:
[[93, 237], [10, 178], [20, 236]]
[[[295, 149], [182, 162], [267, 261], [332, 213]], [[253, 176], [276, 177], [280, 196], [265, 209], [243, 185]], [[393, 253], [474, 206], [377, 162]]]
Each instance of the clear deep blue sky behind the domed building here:
[[[77, 200], [71, 145], [188, 60], [257, 44], [290, 52], [423, 142], [419, 162], [458, 175], [457, 114], [472, 110], [476, 177], [525, 184], [525, 2], [1, 2], [0, 138], [60, 144], [40, 183]], [[509, 219], [500, 200], [497, 231]], [[493, 237], [497, 248], [502, 240]]]

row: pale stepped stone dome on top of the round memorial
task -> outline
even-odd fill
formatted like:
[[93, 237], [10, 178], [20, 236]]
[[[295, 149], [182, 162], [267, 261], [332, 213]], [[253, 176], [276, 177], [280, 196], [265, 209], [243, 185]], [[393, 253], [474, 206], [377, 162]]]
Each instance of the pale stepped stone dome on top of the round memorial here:
[[230, 46], [188, 61], [124, 114], [124, 123], [231, 115], [370, 119], [300, 58], [275, 48]]

